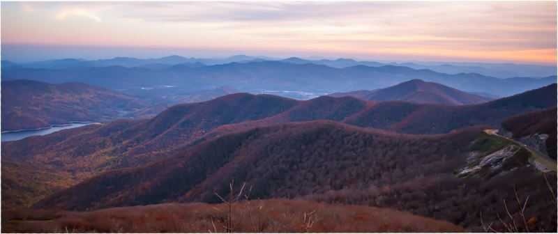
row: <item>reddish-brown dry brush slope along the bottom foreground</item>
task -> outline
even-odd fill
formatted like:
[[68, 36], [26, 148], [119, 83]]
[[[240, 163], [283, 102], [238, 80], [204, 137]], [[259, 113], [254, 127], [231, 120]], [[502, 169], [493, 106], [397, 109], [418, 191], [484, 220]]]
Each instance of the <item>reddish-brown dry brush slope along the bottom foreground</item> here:
[[[92, 212], [20, 210], [3, 215], [2, 232], [460, 232], [446, 221], [407, 212], [311, 201], [163, 203]], [[230, 228], [230, 229], [229, 229]]]

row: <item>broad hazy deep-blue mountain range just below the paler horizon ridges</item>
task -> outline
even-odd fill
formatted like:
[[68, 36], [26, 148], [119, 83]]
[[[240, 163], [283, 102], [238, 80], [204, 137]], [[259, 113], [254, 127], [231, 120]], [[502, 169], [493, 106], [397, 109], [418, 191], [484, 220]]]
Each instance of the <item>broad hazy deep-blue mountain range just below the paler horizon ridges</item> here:
[[[167, 60], [180, 61], [180, 59]], [[386, 88], [404, 81], [422, 79], [469, 93], [488, 93], [500, 97], [540, 88], [555, 83], [557, 79], [556, 76], [499, 79], [475, 73], [448, 75], [432, 70], [415, 70], [395, 65], [332, 68], [328, 65], [299, 64], [292, 61], [244, 61], [204, 66], [195, 65], [196, 63], [187, 64], [157, 69], [147, 68], [145, 65], [133, 68], [117, 65], [62, 69], [13, 66], [2, 71], [2, 79], [33, 79], [48, 83], [82, 82], [129, 94], [136, 94], [142, 88], [153, 86], [173, 86], [175, 88], [167, 92], [179, 93], [220, 86], [229, 86], [244, 92], [279, 90], [335, 93], [363, 88]]]

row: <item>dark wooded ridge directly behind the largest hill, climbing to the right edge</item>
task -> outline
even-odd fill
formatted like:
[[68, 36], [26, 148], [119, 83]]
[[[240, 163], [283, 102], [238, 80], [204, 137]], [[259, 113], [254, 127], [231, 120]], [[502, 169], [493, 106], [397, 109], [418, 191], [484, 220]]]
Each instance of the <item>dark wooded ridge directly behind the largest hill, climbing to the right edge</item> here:
[[359, 127], [372, 127], [409, 134], [447, 133], [461, 127], [491, 125], [498, 128], [509, 116], [555, 107], [556, 84], [501, 98], [462, 106], [417, 104], [402, 101], [373, 102], [352, 97], [322, 96], [302, 101], [284, 113], [227, 128], [253, 127], [271, 123], [329, 119]]

